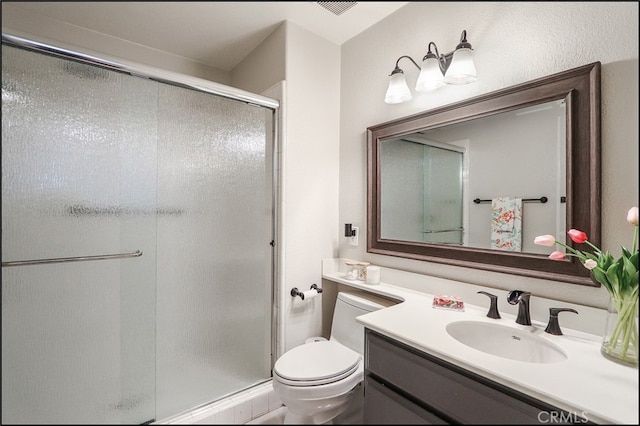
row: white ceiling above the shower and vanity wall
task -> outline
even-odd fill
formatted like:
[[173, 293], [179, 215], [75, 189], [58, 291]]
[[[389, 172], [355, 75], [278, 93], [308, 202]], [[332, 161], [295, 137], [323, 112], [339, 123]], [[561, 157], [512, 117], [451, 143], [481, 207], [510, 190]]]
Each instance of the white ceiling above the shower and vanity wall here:
[[356, 2], [340, 15], [309, 1], [12, 2], [12, 7], [230, 71], [285, 20], [342, 44], [407, 3]]

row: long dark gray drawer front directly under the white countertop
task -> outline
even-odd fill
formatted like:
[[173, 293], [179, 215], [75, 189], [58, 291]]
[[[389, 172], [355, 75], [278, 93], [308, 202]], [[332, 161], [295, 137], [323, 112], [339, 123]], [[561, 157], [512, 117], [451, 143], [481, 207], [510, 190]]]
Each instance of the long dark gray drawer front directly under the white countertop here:
[[[369, 380], [390, 385], [450, 423], [543, 423], [549, 419], [544, 413], [561, 413], [547, 403], [369, 329], [365, 342]], [[562, 418], [586, 422], [571, 415]]]

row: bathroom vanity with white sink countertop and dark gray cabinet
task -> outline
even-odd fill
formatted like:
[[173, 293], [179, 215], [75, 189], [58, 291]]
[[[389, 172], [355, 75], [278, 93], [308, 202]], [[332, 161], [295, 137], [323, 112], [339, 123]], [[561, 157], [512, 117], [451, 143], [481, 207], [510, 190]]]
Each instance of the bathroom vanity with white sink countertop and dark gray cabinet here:
[[[427, 291], [467, 291], [461, 294], [464, 311], [434, 309], [433, 294], [413, 290], [413, 283], [403, 281], [411, 273], [382, 268], [382, 282], [367, 285], [346, 280], [340, 267], [341, 261], [323, 262], [323, 279], [399, 301], [357, 318], [366, 329], [366, 423], [638, 424], [638, 369], [605, 359], [600, 354], [602, 336], [573, 326], [597, 328], [603, 318], [599, 309], [534, 294], [532, 325], [524, 326], [505, 306], [501, 318], [488, 318], [486, 296], [473, 297], [486, 290], [505, 299], [506, 292], [498, 289], [456, 287], [456, 282], [446, 288], [448, 280], [419, 275]], [[573, 308], [579, 315], [561, 315], [563, 334], [552, 335], [544, 331], [549, 307]], [[480, 326], [478, 330], [487, 333], [506, 330], [514, 340], [544, 349], [544, 356], [519, 359], [506, 342], [476, 349], [454, 338], [452, 324]]]

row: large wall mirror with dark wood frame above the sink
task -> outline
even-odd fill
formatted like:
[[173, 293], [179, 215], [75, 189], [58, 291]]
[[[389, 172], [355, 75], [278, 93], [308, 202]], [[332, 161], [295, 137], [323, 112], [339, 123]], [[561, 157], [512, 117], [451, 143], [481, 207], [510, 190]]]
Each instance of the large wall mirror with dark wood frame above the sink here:
[[367, 251], [597, 286], [533, 240], [600, 244], [600, 67], [369, 127]]

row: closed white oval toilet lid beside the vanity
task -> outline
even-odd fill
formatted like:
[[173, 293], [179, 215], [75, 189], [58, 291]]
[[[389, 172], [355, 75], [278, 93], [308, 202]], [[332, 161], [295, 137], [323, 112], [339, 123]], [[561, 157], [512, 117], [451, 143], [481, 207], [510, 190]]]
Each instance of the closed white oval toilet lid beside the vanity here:
[[289, 350], [276, 361], [273, 370], [287, 384], [321, 385], [353, 374], [361, 359], [357, 352], [329, 340]]

